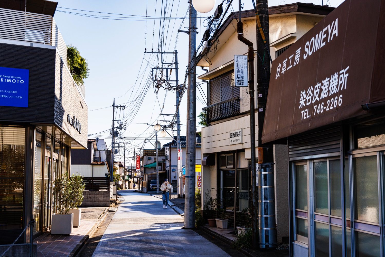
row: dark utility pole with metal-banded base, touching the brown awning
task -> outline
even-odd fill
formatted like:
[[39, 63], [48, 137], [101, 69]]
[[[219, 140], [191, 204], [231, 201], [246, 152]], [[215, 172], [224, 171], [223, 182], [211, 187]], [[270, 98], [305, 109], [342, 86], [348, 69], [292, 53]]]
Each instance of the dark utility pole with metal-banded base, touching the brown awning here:
[[[253, 1], [254, 2], [254, 1]], [[258, 0], [255, 8], [257, 22], [257, 94], [258, 94], [258, 211], [259, 247], [275, 248], [274, 153], [273, 144], [262, 144], [262, 130], [270, 81], [269, 10], [268, 0]], [[257, 197], [257, 196], [255, 196]], [[256, 199], [253, 199], [253, 202]]]

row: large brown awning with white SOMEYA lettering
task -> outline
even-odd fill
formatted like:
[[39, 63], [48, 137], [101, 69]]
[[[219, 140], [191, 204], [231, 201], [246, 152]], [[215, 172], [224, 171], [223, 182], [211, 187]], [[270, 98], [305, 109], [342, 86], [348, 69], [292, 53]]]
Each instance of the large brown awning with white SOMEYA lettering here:
[[262, 143], [385, 100], [385, 0], [345, 0], [273, 61]]

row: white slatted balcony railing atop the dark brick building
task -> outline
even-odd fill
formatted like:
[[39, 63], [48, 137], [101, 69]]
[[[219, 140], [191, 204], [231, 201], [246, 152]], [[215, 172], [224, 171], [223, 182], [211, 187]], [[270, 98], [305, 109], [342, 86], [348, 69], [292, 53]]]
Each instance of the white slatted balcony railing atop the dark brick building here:
[[0, 17], [0, 39], [52, 45], [67, 59], [67, 45], [52, 16], [0, 8]]

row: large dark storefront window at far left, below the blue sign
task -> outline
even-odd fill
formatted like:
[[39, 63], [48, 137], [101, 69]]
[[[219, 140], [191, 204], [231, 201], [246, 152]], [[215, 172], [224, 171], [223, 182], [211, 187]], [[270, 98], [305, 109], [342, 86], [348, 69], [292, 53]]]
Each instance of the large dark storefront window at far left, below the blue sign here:
[[0, 127], [0, 230], [22, 228], [25, 128]]

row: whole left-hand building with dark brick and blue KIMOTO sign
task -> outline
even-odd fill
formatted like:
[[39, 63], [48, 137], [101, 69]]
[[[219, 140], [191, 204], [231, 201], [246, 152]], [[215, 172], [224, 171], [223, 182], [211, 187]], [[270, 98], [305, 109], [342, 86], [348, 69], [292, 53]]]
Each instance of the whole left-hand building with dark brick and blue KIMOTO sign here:
[[[54, 181], [87, 148], [85, 86], [67, 67], [57, 2], [0, 1], [0, 244], [50, 231]], [[27, 230], [28, 231], [28, 230]], [[27, 243], [23, 233], [17, 243]]]

